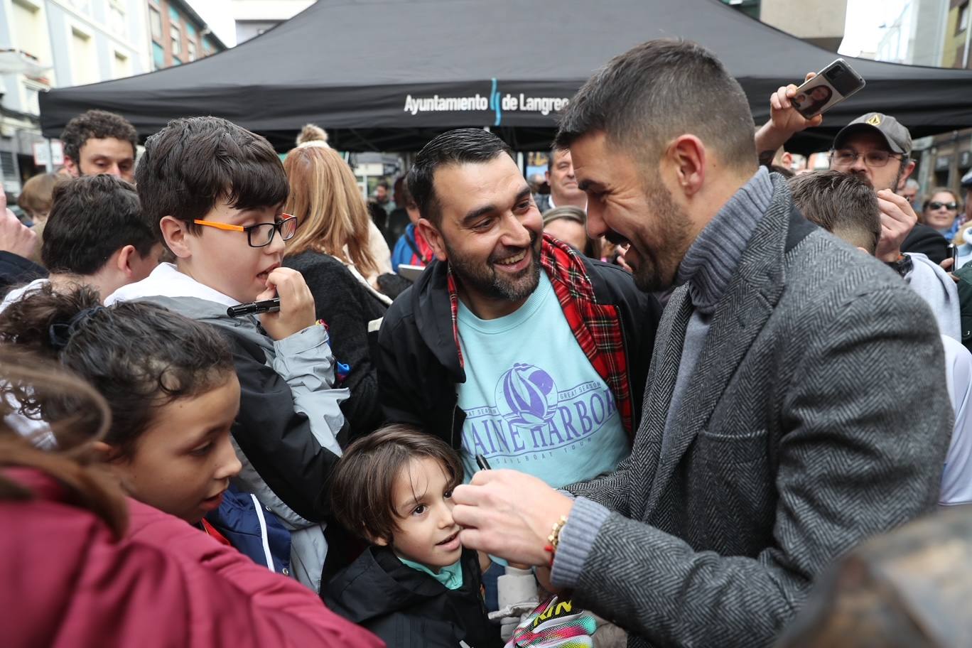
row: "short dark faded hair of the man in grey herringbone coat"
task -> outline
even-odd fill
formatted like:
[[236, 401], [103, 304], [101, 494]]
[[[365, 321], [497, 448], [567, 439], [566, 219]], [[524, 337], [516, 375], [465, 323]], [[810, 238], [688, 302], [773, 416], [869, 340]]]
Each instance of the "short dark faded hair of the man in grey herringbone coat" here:
[[755, 170], [754, 130], [746, 93], [711, 51], [657, 39], [615, 56], [577, 91], [554, 146], [604, 131], [611, 145], [656, 162], [691, 133], [723, 161]]

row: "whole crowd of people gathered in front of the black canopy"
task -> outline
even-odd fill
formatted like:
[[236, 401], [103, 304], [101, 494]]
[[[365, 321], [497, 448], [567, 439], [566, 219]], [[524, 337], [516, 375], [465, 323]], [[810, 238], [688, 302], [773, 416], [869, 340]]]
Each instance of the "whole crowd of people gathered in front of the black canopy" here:
[[72, 119], [0, 204], [0, 644], [969, 636], [894, 593], [966, 587], [972, 200], [882, 113], [781, 167], [798, 100], [649, 41], [548, 192], [460, 128], [371, 200], [316, 126]]

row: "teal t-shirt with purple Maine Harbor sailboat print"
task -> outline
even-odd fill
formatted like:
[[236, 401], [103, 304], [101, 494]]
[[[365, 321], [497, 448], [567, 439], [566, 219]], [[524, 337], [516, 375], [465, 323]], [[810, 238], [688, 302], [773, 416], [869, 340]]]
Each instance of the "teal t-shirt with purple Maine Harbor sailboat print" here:
[[460, 302], [459, 337], [467, 480], [479, 454], [493, 468], [520, 470], [554, 488], [609, 472], [627, 456], [613, 394], [577, 344], [546, 273], [503, 318], [480, 320]]

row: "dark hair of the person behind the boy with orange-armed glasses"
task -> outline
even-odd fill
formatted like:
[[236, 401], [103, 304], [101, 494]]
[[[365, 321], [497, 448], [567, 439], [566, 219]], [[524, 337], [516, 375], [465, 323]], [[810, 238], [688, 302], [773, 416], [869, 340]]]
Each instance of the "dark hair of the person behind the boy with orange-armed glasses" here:
[[124, 246], [148, 256], [156, 242], [134, 187], [107, 174], [82, 176], [54, 188], [41, 260], [51, 272], [92, 275]]

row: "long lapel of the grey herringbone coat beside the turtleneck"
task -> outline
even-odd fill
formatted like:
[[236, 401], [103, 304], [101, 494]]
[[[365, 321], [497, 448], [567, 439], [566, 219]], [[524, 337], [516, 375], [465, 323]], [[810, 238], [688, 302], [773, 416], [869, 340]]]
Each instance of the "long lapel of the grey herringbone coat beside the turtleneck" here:
[[[753, 230], [729, 288], [716, 304], [702, 351], [674, 413], [673, 425], [665, 430], [665, 434], [672, 436], [661, 445], [663, 452], [645, 510], [648, 515], [658, 505], [696, 434], [708, 426], [729, 381], [780, 299], [784, 286], [782, 257], [790, 214], [789, 193], [784, 186], [780, 189], [778, 186], [774, 191], [770, 209]], [[675, 362], [679, 359], [680, 356], [676, 357]], [[671, 360], [666, 358], [666, 361]], [[661, 425], [664, 424], [663, 420]]]

